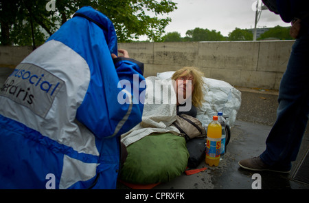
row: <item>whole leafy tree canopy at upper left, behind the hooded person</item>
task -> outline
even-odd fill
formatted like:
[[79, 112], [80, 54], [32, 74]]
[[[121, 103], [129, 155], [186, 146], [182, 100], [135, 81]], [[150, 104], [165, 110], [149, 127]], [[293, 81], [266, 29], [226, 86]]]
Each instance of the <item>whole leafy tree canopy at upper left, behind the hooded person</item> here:
[[171, 0], [56, 0], [55, 10], [46, 9], [48, 2], [0, 0], [1, 45], [41, 45], [82, 6], [92, 6], [111, 19], [119, 42], [144, 34], [152, 41], [161, 41], [171, 19], [159, 16], [176, 9]]

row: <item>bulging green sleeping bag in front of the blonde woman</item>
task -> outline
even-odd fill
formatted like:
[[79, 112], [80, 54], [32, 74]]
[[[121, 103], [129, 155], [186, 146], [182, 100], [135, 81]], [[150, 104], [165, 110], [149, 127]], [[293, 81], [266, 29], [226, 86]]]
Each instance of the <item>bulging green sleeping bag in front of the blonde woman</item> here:
[[187, 167], [185, 138], [172, 133], [152, 133], [127, 147], [128, 157], [119, 179], [134, 184], [168, 182]]

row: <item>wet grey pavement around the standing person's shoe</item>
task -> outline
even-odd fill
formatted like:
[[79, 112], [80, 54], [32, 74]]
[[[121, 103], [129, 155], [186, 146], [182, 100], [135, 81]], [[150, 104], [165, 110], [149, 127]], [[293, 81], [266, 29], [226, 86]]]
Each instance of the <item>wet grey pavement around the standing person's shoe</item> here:
[[231, 129], [231, 140], [227, 146], [225, 159], [218, 167], [209, 167], [202, 162], [198, 168], [207, 167], [206, 171], [194, 175], [183, 175], [154, 189], [252, 189], [254, 173], [259, 173], [262, 189], [309, 189], [309, 184], [296, 182], [293, 175], [308, 150], [309, 134], [304, 137], [303, 146], [290, 173], [270, 171], [248, 171], [238, 165], [238, 161], [259, 156], [265, 149], [265, 140], [271, 126], [252, 122], [236, 121]]

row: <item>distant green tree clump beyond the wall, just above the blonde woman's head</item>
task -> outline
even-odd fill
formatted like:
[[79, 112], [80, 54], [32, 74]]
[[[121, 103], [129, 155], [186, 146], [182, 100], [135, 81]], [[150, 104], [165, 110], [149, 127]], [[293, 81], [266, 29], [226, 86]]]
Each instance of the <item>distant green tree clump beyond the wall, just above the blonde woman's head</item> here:
[[194, 30], [187, 30], [185, 33], [190, 41], [224, 41], [225, 37], [216, 30], [208, 30], [203, 28], [194, 28]]

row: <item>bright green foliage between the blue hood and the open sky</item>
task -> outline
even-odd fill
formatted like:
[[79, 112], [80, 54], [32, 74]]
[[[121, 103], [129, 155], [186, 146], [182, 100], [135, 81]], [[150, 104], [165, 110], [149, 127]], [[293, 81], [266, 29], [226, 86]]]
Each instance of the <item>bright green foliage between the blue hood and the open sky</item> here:
[[[158, 16], [176, 9], [176, 3], [171, 0], [98, 1], [96, 8], [113, 21], [119, 42], [130, 42], [144, 34], [152, 41], [162, 41], [164, 28], [171, 19], [160, 19]], [[155, 17], [146, 14], [146, 10], [154, 13]]]

